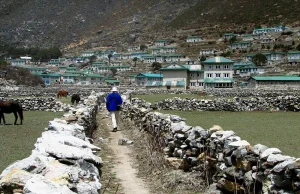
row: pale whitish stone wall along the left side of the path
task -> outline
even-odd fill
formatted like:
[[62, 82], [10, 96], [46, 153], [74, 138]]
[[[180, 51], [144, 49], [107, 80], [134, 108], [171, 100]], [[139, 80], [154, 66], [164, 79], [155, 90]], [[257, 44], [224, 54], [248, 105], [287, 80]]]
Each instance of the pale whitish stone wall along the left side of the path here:
[[104, 94], [92, 94], [49, 122], [32, 154], [8, 166], [0, 175], [0, 193], [91, 193], [101, 183], [101, 149], [91, 142], [98, 106]]

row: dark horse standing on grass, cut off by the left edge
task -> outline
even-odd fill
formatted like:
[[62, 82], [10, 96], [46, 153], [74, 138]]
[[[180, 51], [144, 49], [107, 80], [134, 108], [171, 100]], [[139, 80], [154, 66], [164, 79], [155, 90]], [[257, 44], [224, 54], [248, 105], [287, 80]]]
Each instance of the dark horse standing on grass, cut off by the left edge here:
[[[14, 125], [17, 124], [18, 120], [18, 114], [20, 116], [20, 124], [23, 124], [23, 108], [21, 103], [14, 101], [14, 100], [9, 100], [9, 101], [0, 101], [0, 123], [1, 119], [3, 118], [3, 123], [5, 124], [5, 117], [3, 113], [14, 113], [15, 115], [15, 122]], [[17, 114], [18, 113], [18, 114]]]

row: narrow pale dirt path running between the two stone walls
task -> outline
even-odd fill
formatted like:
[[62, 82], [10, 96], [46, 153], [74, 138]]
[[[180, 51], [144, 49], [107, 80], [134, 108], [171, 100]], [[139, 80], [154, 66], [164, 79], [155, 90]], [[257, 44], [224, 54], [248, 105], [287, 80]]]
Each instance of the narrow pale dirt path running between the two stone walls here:
[[[103, 115], [105, 115], [105, 113]], [[102, 119], [101, 122], [103, 122], [103, 130], [112, 130], [110, 117]], [[130, 157], [131, 149], [125, 145], [118, 145], [118, 140], [123, 137], [122, 131], [110, 132], [108, 146], [113, 150], [116, 156], [113, 172], [116, 174], [116, 177], [120, 179], [124, 194], [150, 194], [145, 182], [137, 177], [137, 169], [132, 167], [134, 161]]]

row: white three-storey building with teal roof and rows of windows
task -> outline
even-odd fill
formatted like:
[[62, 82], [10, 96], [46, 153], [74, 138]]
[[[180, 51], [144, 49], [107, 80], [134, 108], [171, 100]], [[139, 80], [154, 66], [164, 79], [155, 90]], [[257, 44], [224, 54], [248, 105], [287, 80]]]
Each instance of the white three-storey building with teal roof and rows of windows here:
[[203, 61], [205, 88], [231, 88], [234, 83], [233, 63], [220, 56]]

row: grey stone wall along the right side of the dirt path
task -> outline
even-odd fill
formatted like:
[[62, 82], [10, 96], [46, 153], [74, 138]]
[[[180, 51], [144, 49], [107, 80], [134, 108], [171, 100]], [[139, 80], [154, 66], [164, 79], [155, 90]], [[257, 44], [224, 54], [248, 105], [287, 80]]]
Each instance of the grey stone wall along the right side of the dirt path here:
[[[188, 126], [176, 115], [152, 112], [149, 103], [133, 99], [123, 106], [123, 122], [148, 132], [176, 168], [200, 171], [206, 193], [296, 193], [300, 159], [278, 148], [250, 145], [233, 131], [215, 126]], [[201, 180], [199, 180], [201, 181]]]

